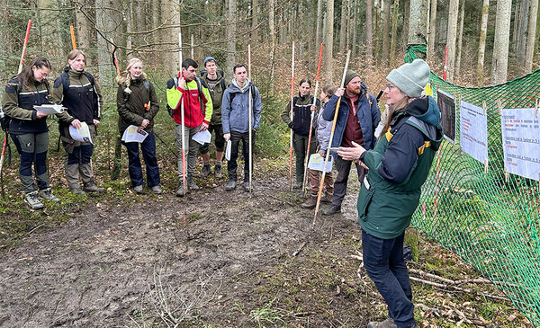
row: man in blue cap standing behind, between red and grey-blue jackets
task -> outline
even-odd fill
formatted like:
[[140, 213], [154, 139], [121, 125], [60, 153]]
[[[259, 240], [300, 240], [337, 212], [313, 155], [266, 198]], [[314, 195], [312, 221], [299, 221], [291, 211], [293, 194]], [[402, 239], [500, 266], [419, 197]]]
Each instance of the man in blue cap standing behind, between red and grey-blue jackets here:
[[[208, 131], [215, 133], [216, 144], [216, 164], [214, 166], [214, 176], [218, 179], [223, 177], [221, 173], [221, 160], [223, 159], [223, 151], [225, 150], [225, 139], [223, 138], [223, 128], [221, 127], [221, 99], [227, 87], [223, 71], [218, 71], [218, 62], [213, 57], [204, 58], [204, 69], [202, 72], [201, 81], [206, 84], [211, 96], [213, 111], [211, 113], [210, 125]], [[201, 175], [203, 178], [211, 173], [209, 143], [205, 143], [199, 149], [202, 155], [204, 164], [202, 165]]]

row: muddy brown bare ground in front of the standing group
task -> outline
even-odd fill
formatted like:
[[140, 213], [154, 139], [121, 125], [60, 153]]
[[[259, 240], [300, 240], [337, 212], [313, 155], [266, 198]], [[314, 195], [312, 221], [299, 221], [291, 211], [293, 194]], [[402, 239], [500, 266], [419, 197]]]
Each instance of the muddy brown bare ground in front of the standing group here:
[[[0, 326], [166, 326], [167, 317], [180, 326], [257, 326], [252, 311], [275, 297], [262, 296], [276, 268], [297, 267], [291, 279], [302, 282], [302, 271], [324, 269], [301, 260], [303, 253], [347, 258], [351, 247], [330, 241], [357, 240], [360, 230], [355, 191], [343, 215], [320, 217], [311, 229], [312, 211], [298, 206], [284, 178], [255, 185], [251, 197], [217, 187], [183, 199], [169, 192], [103, 200], [62, 226], [32, 233], [0, 254]], [[325, 312], [346, 310], [354, 299], [322, 309], [309, 304], [312, 289], [293, 301], [305, 302], [303, 311], [289, 306], [284, 314], [283, 305], [276, 323], [343, 324]], [[331, 297], [335, 288], [328, 289]]]

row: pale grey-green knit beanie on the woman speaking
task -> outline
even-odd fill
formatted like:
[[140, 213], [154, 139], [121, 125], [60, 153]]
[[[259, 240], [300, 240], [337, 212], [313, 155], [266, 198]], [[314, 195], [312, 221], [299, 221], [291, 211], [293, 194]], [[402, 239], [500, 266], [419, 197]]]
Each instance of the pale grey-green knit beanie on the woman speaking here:
[[410, 64], [392, 69], [386, 79], [410, 98], [417, 98], [428, 84], [429, 65], [422, 59], [414, 59]]

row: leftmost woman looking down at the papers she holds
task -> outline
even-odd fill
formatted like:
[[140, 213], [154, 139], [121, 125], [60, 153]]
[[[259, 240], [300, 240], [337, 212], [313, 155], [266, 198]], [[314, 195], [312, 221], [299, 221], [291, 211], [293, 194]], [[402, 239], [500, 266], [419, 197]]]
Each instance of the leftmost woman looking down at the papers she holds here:
[[[14, 76], [5, 86], [2, 106], [10, 118], [8, 131], [20, 157], [19, 177], [25, 192], [24, 201], [33, 209], [43, 208], [40, 199], [60, 201], [52, 194], [47, 172], [47, 150], [49, 149], [48, 114], [34, 106], [49, 103], [50, 63], [47, 58], [35, 58], [21, 74]], [[56, 114], [58, 119], [73, 127], [80, 122], [67, 112]], [[34, 166], [38, 190], [34, 183], [31, 167]]]

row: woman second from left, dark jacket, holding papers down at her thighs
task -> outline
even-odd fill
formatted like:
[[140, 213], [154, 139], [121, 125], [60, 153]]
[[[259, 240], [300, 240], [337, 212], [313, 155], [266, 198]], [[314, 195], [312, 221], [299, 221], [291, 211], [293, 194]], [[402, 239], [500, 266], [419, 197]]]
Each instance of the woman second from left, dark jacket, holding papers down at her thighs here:
[[[90, 137], [95, 140], [95, 127], [100, 122], [103, 97], [99, 84], [94, 77], [85, 72], [86, 56], [81, 50], [71, 50], [67, 54], [68, 66], [54, 81], [51, 101], [61, 103], [67, 108], [69, 115], [88, 125]], [[68, 81], [69, 86], [64, 85]], [[67, 83], [66, 83], [67, 84]], [[65, 92], [66, 91], [66, 92]], [[62, 146], [67, 153], [66, 179], [67, 187], [76, 194], [85, 191], [101, 192], [94, 182], [92, 169], [92, 154], [94, 144], [74, 140], [69, 135], [69, 127], [60, 122], [58, 129], [62, 139]], [[83, 190], [80, 188], [79, 174], [83, 180]]]

